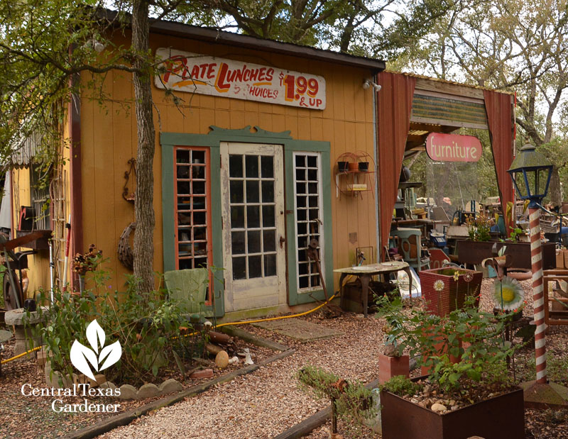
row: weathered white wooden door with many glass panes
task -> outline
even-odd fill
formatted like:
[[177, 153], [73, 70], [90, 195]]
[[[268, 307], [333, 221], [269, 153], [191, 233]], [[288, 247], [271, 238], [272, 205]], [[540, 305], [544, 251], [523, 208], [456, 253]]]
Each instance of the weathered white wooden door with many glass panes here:
[[221, 144], [225, 311], [286, 303], [281, 145]]

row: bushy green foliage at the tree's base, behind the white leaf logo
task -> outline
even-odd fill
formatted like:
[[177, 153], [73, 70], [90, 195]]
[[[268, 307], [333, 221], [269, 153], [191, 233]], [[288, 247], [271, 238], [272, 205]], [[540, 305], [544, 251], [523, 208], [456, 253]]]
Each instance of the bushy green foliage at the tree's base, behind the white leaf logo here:
[[112, 293], [104, 284], [107, 273], [94, 274], [97, 294], [88, 290], [77, 296], [55, 290], [51, 303], [50, 294], [45, 291], [38, 296], [38, 302], [48, 304], [48, 309], [40, 309], [43, 323], [36, 335], [47, 346], [52, 369], [65, 376], [74, 372], [69, 357], [71, 346], [75, 340], [89, 345], [85, 330], [96, 318], [107, 337], [119, 340], [122, 348], [121, 360], [105, 371], [107, 379], [142, 384], [151, 382], [160, 369], [177, 365], [181, 370], [175, 351], [187, 350], [192, 340], [180, 333], [180, 328], [191, 330], [191, 325], [178, 303], [165, 299], [164, 291], [139, 294], [133, 277], [129, 277], [126, 291]]

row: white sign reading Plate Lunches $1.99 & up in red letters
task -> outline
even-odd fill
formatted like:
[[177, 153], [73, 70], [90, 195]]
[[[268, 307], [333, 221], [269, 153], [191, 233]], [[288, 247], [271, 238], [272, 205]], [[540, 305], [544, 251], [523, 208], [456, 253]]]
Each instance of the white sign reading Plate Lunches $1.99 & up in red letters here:
[[159, 89], [325, 109], [325, 79], [315, 74], [160, 48]]

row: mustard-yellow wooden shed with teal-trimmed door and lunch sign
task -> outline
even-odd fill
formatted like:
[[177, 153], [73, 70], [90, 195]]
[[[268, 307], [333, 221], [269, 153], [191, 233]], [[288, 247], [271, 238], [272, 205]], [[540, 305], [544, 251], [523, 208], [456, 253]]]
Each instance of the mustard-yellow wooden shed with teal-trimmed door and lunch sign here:
[[[129, 45], [129, 35], [114, 43]], [[442, 107], [452, 99], [485, 104], [484, 91], [457, 84], [428, 90], [434, 81], [380, 73], [380, 60], [164, 21], [153, 24], [151, 48], [165, 65], [153, 82], [154, 267], [222, 269], [207, 304], [228, 320], [324, 299], [307, 254], [312, 239], [329, 294], [338, 287], [333, 269], [356, 264], [358, 250], [378, 262], [404, 151], [420, 147], [411, 128], [475, 123], [488, 126], [493, 138], [506, 131], [498, 148], [505, 162], [512, 157], [513, 103], [506, 94], [506, 128], [493, 130], [491, 116], [453, 123], [432, 116], [439, 110], [432, 99]], [[102, 84], [107, 100], [85, 93], [70, 105], [64, 128], [70, 147], [61, 147], [65, 160], [53, 166], [48, 193], [32, 189], [33, 166], [11, 171], [13, 232], [22, 206], [49, 198], [48, 215], [38, 214], [33, 227], [41, 217], [53, 230], [56, 282], [70, 216], [72, 255], [97, 245], [109, 257], [107, 287], [121, 290], [131, 273], [117, 249], [128, 246], [124, 236], [134, 221], [133, 85], [118, 71]], [[475, 97], [464, 99], [464, 90]], [[420, 106], [420, 99], [430, 102]], [[30, 291], [49, 288], [48, 250], [38, 248], [28, 260]], [[70, 272], [67, 282], [74, 278]]]

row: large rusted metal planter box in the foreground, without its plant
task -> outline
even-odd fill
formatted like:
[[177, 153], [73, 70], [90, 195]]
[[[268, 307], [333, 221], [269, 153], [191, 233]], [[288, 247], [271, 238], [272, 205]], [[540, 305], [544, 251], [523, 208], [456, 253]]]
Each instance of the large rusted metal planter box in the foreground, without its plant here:
[[443, 415], [383, 390], [381, 424], [383, 439], [524, 438], [523, 389], [518, 388]]

